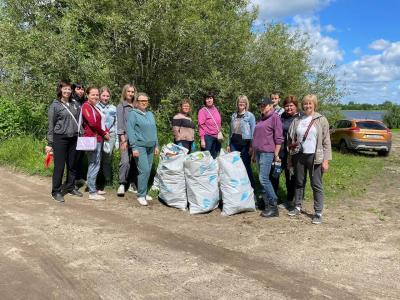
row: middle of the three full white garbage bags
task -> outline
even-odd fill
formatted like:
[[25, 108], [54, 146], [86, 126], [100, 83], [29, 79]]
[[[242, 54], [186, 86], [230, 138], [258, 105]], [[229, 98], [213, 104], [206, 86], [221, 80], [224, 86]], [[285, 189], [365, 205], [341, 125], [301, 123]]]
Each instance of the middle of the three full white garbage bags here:
[[185, 158], [190, 214], [214, 210], [219, 202], [218, 164], [210, 152], [194, 152]]

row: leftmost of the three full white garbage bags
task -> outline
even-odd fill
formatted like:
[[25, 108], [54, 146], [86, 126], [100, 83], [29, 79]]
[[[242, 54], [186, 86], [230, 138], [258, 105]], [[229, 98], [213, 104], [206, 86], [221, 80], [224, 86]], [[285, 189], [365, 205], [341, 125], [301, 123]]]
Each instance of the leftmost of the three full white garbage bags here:
[[159, 189], [158, 197], [168, 206], [186, 210], [186, 184], [183, 163], [188, 150], [168, 144], [162, 147], [160, 162], [154, 184]]

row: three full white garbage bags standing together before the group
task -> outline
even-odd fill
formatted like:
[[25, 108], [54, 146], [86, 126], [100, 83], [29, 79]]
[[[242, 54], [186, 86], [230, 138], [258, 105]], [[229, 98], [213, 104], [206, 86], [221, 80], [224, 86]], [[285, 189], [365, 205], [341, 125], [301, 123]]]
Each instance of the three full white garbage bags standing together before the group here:
[[153, 187], [166, 205], [190, 214], [206, 213], [218, 207], [222, 215], [254, 211], [254, 191], [237, 151], [221, 153], [214, 160], [208, 151], [187, 154], [184, 147], [162, 147]]

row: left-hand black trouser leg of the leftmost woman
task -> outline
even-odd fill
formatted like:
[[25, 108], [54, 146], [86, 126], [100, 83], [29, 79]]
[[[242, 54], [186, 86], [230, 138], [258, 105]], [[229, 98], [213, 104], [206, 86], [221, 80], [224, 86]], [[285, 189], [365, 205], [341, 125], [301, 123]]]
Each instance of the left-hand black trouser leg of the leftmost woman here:
[[54, 171], [52, 178], [51, 194], [61, 193], [62, 178], [64, 175], [65, 161], [67, 157], [68, 142], [66, 138], [60, 135], [54, 135], [53, 155], [54, 155]]

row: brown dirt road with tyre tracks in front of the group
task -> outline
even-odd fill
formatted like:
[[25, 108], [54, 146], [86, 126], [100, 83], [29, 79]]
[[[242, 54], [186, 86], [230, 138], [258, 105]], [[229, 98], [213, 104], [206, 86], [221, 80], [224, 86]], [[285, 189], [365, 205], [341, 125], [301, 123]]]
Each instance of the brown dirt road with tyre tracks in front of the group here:
[[49, 179], [0, 168], [0, 298], [399, 299], [399, 152], [321, 226], [284, 211], [190, 216], [132, 194], [58, 204]]

